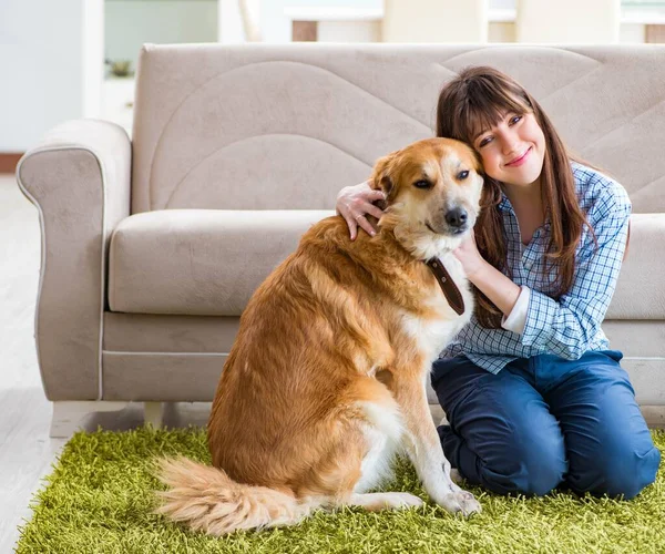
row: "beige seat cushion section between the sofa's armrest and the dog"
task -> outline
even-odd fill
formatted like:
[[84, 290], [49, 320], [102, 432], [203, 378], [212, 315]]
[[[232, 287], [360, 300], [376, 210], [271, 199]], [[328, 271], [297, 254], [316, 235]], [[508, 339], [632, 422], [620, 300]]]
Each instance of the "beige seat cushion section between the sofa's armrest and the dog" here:
[[334, 211], [165, 209], [111, 236], [109, 306], [126, 314], [239, 316], [300, 236]]

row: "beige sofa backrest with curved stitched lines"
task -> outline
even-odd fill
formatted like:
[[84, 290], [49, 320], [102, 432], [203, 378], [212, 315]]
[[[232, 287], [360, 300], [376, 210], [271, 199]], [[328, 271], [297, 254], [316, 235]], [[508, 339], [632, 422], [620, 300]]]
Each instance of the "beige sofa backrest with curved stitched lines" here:
[[144, 47], [132, 213], [331, 209], [388, 152], [433, 135], [462, 68], [522, 83], [573, 152], [665, 212], [665, 48], [407, 44]]

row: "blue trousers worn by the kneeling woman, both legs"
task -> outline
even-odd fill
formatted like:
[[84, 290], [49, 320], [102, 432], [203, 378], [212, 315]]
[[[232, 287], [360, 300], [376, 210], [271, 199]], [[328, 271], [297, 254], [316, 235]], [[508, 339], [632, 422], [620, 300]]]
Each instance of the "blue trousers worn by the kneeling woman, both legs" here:
[[437, 360], [432, 386], [449, 425], [446, 458], [498, 493], [574, 492], [632, 499], [661, 461], [616, 350], [575, 361], [520, 358], [498, 375], [468, 358]]

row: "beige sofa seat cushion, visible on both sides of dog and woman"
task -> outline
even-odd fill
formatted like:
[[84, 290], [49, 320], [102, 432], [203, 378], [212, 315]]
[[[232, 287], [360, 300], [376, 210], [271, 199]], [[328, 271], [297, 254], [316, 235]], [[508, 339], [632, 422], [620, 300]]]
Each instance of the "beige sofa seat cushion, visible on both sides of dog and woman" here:
[[[166, 209], [123, 219], [111, 238], [112, 311], [239, 316], [305, 230], [334, 212]], [[607, 319], [663, 319], [665, 215], [634, 214]]]

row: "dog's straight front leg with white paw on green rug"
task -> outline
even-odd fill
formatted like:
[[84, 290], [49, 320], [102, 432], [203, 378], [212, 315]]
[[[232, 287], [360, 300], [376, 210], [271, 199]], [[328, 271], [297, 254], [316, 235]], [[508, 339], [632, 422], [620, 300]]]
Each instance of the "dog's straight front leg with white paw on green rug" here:
[[443, 455], [437, 429], [427, 403], [420, 371], [396, 371], [392, 393], [405, 418], [405, 442], [418, 476], [431, 499], [449, 512], [469, 515], [480, 512], [478, 501], [450, 479], [450, 463]]

